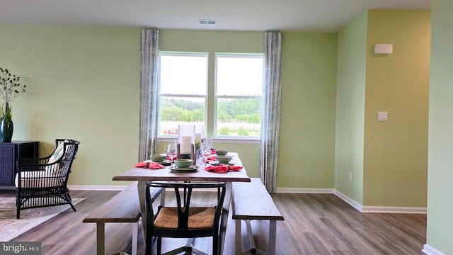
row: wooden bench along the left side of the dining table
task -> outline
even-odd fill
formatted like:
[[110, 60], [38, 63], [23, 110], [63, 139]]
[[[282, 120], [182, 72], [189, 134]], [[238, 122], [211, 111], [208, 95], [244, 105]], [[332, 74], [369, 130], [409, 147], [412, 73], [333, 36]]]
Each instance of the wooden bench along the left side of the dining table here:
[[[134, 223], [132, 229], [132, 255], [137, 255], [138, 225], [141, 217], [137, 183], [135, 181], [84, 218], [83, 222], [96, 222], [96, 254], [105, 254], [106, 222], [130, 222]], [[153, 200], [156, 199], [162, 191], [164, 191], [164, 188], [151, 189], [151, 198]]]

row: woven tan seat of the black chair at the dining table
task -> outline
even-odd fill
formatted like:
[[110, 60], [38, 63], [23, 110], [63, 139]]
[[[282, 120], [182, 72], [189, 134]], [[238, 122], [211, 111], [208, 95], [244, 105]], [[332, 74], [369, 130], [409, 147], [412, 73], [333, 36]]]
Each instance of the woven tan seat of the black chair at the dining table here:
[[[188, 229], [212, 227], [214, 222], [214, 208], [194, 207], [189, 210]], [[178, 208], [161, 208], [154, 221], [154, 227], [178, 228]]]

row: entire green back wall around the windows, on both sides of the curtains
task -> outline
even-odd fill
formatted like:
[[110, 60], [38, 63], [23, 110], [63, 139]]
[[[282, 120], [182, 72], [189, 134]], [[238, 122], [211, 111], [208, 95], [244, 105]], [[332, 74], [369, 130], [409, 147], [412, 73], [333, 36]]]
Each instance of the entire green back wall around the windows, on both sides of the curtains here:
[[[69, 184], [125, 185], [111, 179], [137, 162], [140, 28], [1, 25], [0, 33], [0, 67], [28, 84], [13, 101], [13, 140], [39, 140], [41, 156], [57, 137], [80, 140]], [[332, 188], [336, 34], [284, 33], [283, 47], [278, 185]], [[263, 32], [161, 30], [161, 50], [263, 48]], [[259, 144], [216, 146], [239, 152], [259, 176]]]

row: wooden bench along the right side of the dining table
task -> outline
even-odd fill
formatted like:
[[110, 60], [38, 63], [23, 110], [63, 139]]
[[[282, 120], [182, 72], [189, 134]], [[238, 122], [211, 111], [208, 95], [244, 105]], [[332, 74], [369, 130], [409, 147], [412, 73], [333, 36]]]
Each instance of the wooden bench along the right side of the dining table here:
[[[274, 204], [265, 186], [259, 178], [251, 178], [250, 183], [234, 182], [232, 188], [231, 205], [233, 207], [233, 219], [236, 220], [236, 255], [237, 254], [262, 254], [275, 255], [275, 232], [277, 220], [285, 220]], [[242, 251], [241, 222], [246, 220], [248, 241], [251, 248]], [[269, 220], [268, 251], [256, 249], [253, 240], [251, 220]]]

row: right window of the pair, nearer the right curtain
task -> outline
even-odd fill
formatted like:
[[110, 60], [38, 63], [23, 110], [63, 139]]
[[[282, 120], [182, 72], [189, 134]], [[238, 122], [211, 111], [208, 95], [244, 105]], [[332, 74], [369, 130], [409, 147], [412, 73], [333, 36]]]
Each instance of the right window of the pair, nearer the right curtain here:
[[263, 55], [216, 55], [217, 137], [260, 137]]

